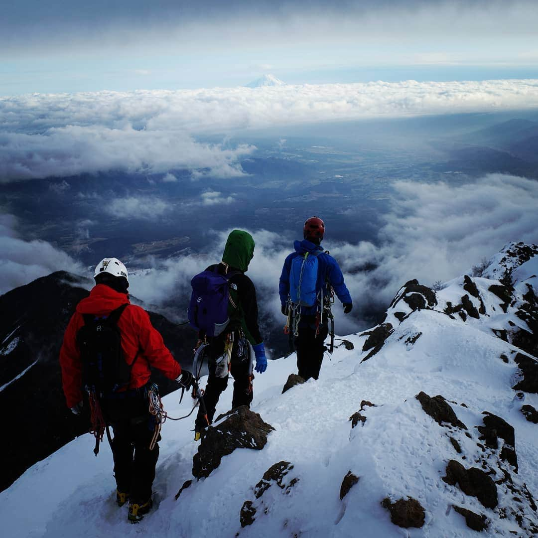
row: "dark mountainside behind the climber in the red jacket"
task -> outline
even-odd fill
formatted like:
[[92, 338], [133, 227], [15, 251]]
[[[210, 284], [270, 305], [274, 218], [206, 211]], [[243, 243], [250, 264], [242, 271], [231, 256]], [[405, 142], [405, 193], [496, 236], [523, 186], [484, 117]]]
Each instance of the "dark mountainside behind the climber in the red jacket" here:
[[[2, 461], [9, 462], [0, 491], [31, 465], [88, 431], [87, 406], [83, 417], [66, 407], [58, 357], [75, 306], [89, 293], [81, 286], [91, 284], [58, 271], [0, 296], [0, 406], [9, 424], [0, 450]], [[189, 369], [194, 332], [149, 314], [174, 357]], [[177, 386], [157, 370], [152, 379], [161, 394]]]

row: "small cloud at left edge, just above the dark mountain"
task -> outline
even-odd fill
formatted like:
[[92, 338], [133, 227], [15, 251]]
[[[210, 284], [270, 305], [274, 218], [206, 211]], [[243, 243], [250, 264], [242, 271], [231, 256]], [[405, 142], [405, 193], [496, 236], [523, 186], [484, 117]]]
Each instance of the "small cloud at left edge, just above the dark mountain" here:
[[54, 271], [83, 274], [83, 267], [46, 241], [18, 237], [13, 215], [0, 215], [0, 294]]

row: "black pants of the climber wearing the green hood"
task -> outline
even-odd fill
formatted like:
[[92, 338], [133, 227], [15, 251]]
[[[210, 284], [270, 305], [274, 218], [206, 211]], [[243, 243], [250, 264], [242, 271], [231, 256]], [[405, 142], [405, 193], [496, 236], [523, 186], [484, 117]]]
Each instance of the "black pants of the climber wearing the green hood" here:
[[[217, 358], [224, 353], [224, 344], [226, 335], [220, 335], [213, 339], [209, 344], [208, 367], [209, 376], [207, 380], [206, 391], [203, 395], [204, 404], [206, 404], [207, 417], [209, 423], [213, 422], [215, 416], [215, 407], [221, 394], [228, 386], [228, 377], [217, 377], [215, 369]], [[232, 409], [242, 405], [250, 407], [254, 393], [252, 390], [252, 379], [254, 376], [250, 372], [250, 350], [249, 345], [244, 336], [241, 336], [239, 331], [235, 331], [235, 341], [232, 346], [232, 355], [230, 359], [230, 373], [233, 377], [233, 397]], [[195, 430], [201, 431], [206, 427], [207, 421], [203, 416], [202, 408], [198, 409], [196, 416]]]

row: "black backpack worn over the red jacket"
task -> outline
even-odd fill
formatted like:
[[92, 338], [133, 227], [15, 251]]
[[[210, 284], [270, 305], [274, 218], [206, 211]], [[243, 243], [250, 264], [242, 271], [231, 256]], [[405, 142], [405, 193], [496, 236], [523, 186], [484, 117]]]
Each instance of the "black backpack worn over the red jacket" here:
[[83, 314], [84, 325], [76, 335], [82, 362], [82, 388], [94, 392], [98, 398], [116, 392], [131, 380], [134, 361], [132, 364], [125, 362], [117, 327], [126, 306], [128, 303], [105, 317]]

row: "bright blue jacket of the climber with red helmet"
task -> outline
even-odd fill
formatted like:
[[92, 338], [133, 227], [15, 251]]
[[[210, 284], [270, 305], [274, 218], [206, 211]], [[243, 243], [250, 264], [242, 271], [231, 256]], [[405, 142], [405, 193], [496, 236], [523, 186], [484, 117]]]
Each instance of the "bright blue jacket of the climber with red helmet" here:
[[[295, 252], [289, 254], [284, 261], [284, 267], [282, 267], [282, 274], [280, 275], [280, 303], [282, 306], [286, 305], [289, 295], [289, 272], [291, 271], [292, 260], [297, 256], [302, 256], [305, 252], [315, 252], [316, 250], [323, 250], [321, 245], [316, 245], [307, 239], [302, 241], [295, 241], [293, 246]], [[317, 255], [318, 271], [316, 289], [323, 289], [323, 296], [327, 297], [327, 281], [329, 285], [334, 288], [336, 296], [343, 303], [351, 303], [351, 295], [349, 290], [344, 284], [344, 275], [338, 266], [338, 262], [329, 254], [321, 252]], [[312, 307], [301, 307], [301, 314], [316, 314], [318, 305]]]

